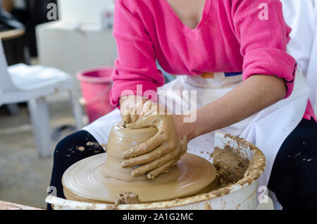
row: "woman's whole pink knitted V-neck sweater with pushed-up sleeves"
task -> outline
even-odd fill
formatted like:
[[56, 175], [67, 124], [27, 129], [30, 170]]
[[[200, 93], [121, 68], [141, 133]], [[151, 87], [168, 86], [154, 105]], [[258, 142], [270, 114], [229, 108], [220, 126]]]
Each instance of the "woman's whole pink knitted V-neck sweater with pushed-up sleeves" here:
[[[267, 7], [259, 8], [263, 3]], [[118, 106], [120, 97], [139, 94], [137, 85], [143, 93], [162, 86], [156, 59], [175, 75], [242, 70], [244, 80], [254, 74], [276, 75], [285, 80], [289, 97], [297, 68], [286, 53], [290, 32], [278, 0], [206, 0], [195, 29], [182, 23], [167, 0], [116, 0], [113, 36], [118, 59], [111, 104]], [[305, 116], [313, 116], [312, 108]]]

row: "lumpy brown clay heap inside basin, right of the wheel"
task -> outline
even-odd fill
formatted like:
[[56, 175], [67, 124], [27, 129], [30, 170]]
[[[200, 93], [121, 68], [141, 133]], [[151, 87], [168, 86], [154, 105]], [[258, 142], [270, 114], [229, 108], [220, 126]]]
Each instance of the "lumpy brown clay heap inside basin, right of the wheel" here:
[[219, 187], [225, 187], [244, 178], [244, 173], [249, 167], [249, 160], [235, 154], [230, 147], [226, 146], [225, 149], [214, 149], [213, 165], [217, 170]]

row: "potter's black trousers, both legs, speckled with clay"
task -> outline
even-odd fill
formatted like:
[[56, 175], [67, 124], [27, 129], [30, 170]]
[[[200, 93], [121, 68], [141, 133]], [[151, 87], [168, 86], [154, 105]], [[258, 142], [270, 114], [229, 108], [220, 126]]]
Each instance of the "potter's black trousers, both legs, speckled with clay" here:
[[[88, 144], [87, 144], [88, 143]], [[82, 130], [61, 140], [54, 151], [51, 185], [64, 197], [61, 178], [73, 163], [104, 153], [97, 140]], [[268, 188], [283, 209], [317, 209], [317, 123], [302, 120], [275, 158]], [[51, 209], [51, 206], [47, 206]]]

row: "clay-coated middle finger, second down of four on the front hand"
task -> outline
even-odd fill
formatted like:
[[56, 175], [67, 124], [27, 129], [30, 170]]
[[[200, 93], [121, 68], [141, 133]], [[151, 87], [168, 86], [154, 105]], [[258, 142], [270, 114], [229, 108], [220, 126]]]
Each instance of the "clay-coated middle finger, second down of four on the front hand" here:
[[137, 156], [135, 158], [130, 158], [126, 161], [123, 161], [121, 163], [122, 168], [131, 168], [134, 166], [139, 166], [145, 163], [149, 163], [151, 161], [154, 161], [156, 158], [160, 158], [161, 156], [167, 154], [170, 151], [168, 144], [163, 143], [160, 147], [157, 147], [153, 151], [144, 154], [142, 156]]

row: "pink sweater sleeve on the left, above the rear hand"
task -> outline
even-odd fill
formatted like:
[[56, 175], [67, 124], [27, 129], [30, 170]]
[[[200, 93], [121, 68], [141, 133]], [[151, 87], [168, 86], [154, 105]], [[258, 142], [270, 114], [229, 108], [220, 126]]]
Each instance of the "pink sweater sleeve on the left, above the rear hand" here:
[[136, 1], [117, 0], [114, 12], [113, 36], [118, 59], [111, 76], [113, 87], [110, 101], [119, 106], [120, 97], [142, 95], [164, 84], [164, 77], [156, 67], [156, 54], [142, 19], [133, 8]]

